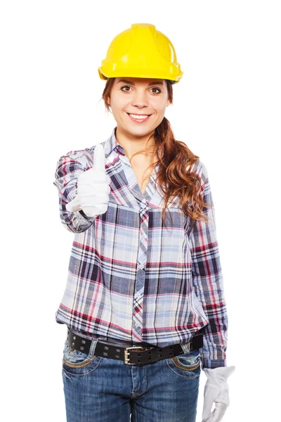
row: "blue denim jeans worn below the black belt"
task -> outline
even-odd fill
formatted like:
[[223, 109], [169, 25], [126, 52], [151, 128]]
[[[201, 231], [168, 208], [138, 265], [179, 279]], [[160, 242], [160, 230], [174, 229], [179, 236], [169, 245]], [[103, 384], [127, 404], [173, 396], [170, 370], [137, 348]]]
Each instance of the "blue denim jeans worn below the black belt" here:
[[92, 340], [86, 354], [65, 340], [67, 422], [195, 422], [200, 349], [152, 364], [127, 365], [95, 356], [97, 341]]

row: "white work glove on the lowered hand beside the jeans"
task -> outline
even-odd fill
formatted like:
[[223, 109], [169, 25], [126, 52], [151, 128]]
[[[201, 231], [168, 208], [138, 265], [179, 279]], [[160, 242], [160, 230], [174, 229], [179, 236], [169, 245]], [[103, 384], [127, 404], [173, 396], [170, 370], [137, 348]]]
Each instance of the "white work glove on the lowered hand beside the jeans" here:
[[[228, 376], [235, 371], [235, 366], [219, 366], [218, 368], [204, 368], [207, 381], [204, 388], [204, 407], [202, 422], [221, 421], [229, 405]], [[215, 403], [215, 409], [211, 407]]]

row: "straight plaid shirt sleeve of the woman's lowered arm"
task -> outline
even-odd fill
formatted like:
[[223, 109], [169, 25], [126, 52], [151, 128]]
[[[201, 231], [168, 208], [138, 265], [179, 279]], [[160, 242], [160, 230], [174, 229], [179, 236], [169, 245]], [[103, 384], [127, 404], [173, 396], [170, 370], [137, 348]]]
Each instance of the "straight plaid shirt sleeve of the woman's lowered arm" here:
[[195, 221], [190, 233], [190, 252], [192, 257], [192, 285], [197, 298], [201, 301], [209, 324], [201, 329], [203, 347], [200, 349], [203, 368], [226, 366], [226, 347], [228, 315], [223, 292], [223, 274], [216, 239], [214, 203], [206, 167], [200, 162], [201, 191], [204, 202], [203, 212], [209, 223]]

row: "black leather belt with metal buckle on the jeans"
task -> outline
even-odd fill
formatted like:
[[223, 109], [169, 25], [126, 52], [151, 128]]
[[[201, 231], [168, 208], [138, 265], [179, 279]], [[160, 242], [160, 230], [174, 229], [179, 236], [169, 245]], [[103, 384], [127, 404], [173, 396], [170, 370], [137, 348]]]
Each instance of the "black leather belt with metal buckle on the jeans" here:
[[[74, 334], [67, 328], [67, 341], [69, 346], [73, 349], [81, 350], [81, 352], [89, 354], [92, 340]], [[199, 349], [203, 346], [203, 334], [195, 333], [189, 343], [190, 351]], [[161, 359], [169, 359], [178, 356], [178, 354], [184, 354], [179, 343], [166, 347], [149, 347], [141, 345], [125, 347], [121, 345], [109, 345], [98, 340], [95, 350], [95, 356], [123, 360], [127, 365], [152, 364]]]

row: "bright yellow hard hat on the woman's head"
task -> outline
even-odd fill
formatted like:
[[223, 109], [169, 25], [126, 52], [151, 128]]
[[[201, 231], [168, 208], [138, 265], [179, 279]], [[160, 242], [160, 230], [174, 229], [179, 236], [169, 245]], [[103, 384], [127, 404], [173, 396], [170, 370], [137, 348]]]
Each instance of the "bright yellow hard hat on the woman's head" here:
[[169, 79], [176, 84], [183, 76], [176, 51], [166, 35], [150, 23], [133, 23], [120, 32], [107, 49], [98, 68], [100, 79], [148, 77]]

